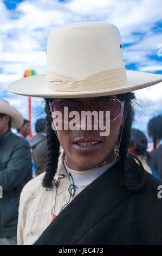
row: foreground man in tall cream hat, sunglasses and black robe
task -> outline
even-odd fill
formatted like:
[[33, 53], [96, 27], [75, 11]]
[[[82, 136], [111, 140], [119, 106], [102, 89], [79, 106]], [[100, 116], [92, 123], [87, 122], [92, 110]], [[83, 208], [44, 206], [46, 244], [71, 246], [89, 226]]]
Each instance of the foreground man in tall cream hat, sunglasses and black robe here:
[[[45, 98], [48, 127], [46, 173], [21, 193], [18, 244], [161, 245], [161, 181], [135, 162], [128, 144], [131, 92], [162, 77], [126, 73], [120, 34], [111, 23], [57, 27], [47, 45], [47, 75], [8, 86]], [[94, 114], [91, 127], [85, 112]]]

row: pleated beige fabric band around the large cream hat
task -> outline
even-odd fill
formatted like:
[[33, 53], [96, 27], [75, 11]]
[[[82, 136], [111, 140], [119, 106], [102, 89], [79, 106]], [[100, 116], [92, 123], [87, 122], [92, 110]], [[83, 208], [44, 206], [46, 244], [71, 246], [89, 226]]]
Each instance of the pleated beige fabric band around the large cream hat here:
[[58, 92], [94, 92], [114, 89], [127, 83], [125, 66], [101, 71], [97, 74], [75, 80], [67, 76], [47, 72], [47, 87]]

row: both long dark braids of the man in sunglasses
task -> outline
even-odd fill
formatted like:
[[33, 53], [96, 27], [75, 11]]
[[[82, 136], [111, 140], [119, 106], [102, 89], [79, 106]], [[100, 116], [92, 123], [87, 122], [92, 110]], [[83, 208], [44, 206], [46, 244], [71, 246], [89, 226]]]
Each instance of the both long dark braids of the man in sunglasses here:
[[[128, 190], [138, 191], [144, 185], [144, 168], [142, 167], [141, 162], [137, 159], [137, 157], [133, 156], [135, 159], [139, 161], [141, 166], [140, 172], [140, 181], [135, 181], [133, 175], [131, 175], [131, 166], [128, 164], [128, 146], [129, 146], [129, 138], [131, 134], [131, 123], [132, 123], [132, 115], [131, 115], [131, 100], [135, 99], [133, 93], [119, 94], [116, 97], [124, 101], [125, 100], [125, 111], [127, 111], [125, 124], [122, 131], [121, 143], [119, 149], [119, 156], [121, 159], [121, 169], [122, 169], [122, 184], [126, 186]], [[50, 120], [50, 109], [49, 109], [49, 101], [50, 99], [45, 99], [46, 101], [46, 114], [47, 114], [47, 145], [48, 145], [48, 164], [46, 169], [46, 174], [44, 175], [42, 185], [43, 187], [47, 187], [49, 189], [53, 186], [53, 179], [56, 173], [57, 164], [59, 160], [59, 149], [60, 142], [55, 135], [55, 131], [51, 128], [51, 120]], [[135, 161], [134, 161], [135, 162]]]

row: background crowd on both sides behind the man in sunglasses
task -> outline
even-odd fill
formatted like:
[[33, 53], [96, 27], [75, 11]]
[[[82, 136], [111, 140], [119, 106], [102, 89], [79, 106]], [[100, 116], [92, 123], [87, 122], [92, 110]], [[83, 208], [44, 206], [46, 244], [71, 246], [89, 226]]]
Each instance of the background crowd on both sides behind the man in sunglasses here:
[[[0, 245], [17, 245], [20, 194], [23, 186], [34, 178], [31, 154], [36, 175], [43, 173], [47, 167], [47, 123], [46, 119], [37, 119], [36, 134], [28, 143], [25, 138], [30, 134], [30, 121], [22, 119], [21, 113], [3, 99], [0, 99], [0, 107], [0, 185], [3, 187], [3, 200], [0, 200]], [[12, 133], [11, 128], [16, 128], [17, 133]], [[148, 134], [154, 146], [150, 152], [147, 151], [144, 132], [131, 128], [128, 153], [137, 156], [148, 173], [162, 179], [162, 115], [148, 122]]]

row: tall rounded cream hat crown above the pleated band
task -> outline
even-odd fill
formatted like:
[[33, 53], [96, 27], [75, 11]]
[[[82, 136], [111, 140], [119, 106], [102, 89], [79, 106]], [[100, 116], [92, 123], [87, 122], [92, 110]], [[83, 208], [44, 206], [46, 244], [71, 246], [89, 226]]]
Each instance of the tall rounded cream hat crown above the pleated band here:
[[124, 66], [118, 28], [106, 22], [57, 27], [48, 37], [48, 71], [76, 80]]

